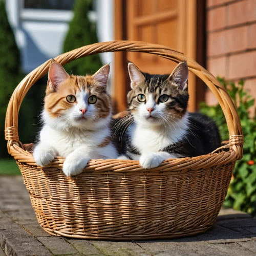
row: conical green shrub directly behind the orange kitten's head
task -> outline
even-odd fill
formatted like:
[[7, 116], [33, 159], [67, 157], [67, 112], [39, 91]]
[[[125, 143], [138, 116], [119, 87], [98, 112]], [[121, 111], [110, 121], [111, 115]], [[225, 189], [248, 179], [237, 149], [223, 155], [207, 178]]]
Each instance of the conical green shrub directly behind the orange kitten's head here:
[[[76, 48], [98, 42], [95, 24], [92, 24], [88, 18], [91, 5], [91, 0], [76, 0], [74, 18], [69, 26], [63, 52], [69, 52]], [[77, 59], [69, 63], [69, 67], [74, 75], [93, 74], [101, 66], [102, 63], [98, 54]], [[68, 67], [67, 71], [70, 72]]]

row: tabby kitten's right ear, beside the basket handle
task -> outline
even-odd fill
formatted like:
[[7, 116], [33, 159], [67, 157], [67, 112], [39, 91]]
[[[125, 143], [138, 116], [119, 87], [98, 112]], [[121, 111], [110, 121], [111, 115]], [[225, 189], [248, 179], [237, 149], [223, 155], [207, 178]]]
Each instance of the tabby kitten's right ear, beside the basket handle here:
[[187, 84], [188, 84], [188, 68], [187, 68], [187, 62], [180, 62], [172, 74], [168, 77], [169, 81], [174, 82], [174, 84], [178, 87], [181, 91], [187, 90]]

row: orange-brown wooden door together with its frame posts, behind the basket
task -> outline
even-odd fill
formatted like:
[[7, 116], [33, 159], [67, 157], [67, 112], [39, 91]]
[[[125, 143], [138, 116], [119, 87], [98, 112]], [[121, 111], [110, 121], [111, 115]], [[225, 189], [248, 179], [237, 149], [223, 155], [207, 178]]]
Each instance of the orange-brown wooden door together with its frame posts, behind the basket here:
[[[164, 45], [196, 59], [196, 8], [197, 0], [115, 0], [116, 39]], [[118, 98], [114, 97], [117, 99], [118, 111], [125, 109], [122, 94], [130, 90], [129, 81], [124, 81], [127, 79], [127, 60], [134, 62], [141, 71], [152, 74], [170, 74], [177, 65], [153, 54], [117, 54], [114, 72], [117, 77], [114, 78], [114, 87], [120, 86], [121, 83], [124, 91], [120, 93], [120, 88], [116, 88]], [[120, 72], [124, 74], [121, 75]], [[196, 97], [193, 74], [189, 74], [189, 94], [189, 110], [194, 111]]]

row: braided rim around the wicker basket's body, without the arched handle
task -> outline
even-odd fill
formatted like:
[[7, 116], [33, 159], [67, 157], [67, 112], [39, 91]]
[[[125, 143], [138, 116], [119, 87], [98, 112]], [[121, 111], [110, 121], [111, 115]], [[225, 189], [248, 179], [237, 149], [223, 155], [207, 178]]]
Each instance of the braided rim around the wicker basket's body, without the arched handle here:
[[[13, 144], [12, 156], [20, 163], [34, 166], [36, 169], [48, 168], [53, 172], [62, 168], [65, 161], [64, 157], [56, 157], [48, 167], [41, 167], [36, 164], [33, 155], [26, 148], [31, 148], [30, 144], [24, 144], [24, 148], [20, 145]], [[239, 159], [239, 155], [230, 144], [222, 146], [221, 148], [229, 147], [229, 151], [222, 151], [220, 153], [209, 153], [207, 155], [201, 155], [197, 157], [185, 157], [185, 158], [170, 158], [163, 161], [158, 167], [151, 169], [144, 169], [138, 160], [120, 160], [120, 159], [92, 159], [87, 166], [83, 169], [83, 172], [182, 172], [189, 169], [197, 170], [201, 168], [209, 168], [216, 165], [225, 165], [230, 162]], [[220, 148], [220, 149], [221, 149]], [[15, 153], [14, 153], [15, 151]], [[54, 169], [55, 168], [55, 169]]]

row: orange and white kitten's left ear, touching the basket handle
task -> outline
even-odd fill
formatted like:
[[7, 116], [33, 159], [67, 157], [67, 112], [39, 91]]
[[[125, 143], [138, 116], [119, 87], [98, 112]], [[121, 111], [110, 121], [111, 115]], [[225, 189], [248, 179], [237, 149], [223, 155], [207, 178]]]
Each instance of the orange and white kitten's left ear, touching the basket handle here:
[[65, 81], [69, 77], [66, 70], [54, 59], [48, 72], [48, 85], [51, 92], [56, 92], [59, 84]]

